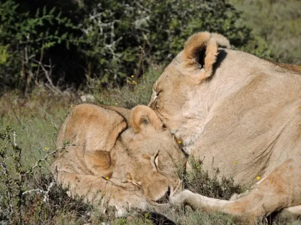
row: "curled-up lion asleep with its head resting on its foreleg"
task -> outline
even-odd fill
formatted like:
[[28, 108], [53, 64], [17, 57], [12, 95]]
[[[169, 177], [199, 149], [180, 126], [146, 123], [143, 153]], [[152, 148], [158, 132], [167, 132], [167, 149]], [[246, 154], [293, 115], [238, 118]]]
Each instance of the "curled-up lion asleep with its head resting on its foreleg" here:
[[63, 140], [74, 146], [52, 165], [58, 181], [70, 185], [72, 196], [115, 206], [118, 217], [147, 210], [149, 201], [161, 202], [182, 186], [176, 168], [185, 164], [185, 156], [147, 106], [77, 105], [58, 134], [58, 148]]

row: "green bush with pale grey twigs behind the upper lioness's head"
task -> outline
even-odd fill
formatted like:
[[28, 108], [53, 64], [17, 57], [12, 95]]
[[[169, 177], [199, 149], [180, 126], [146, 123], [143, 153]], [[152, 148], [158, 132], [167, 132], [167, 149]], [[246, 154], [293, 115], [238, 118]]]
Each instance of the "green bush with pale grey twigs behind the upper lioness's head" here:
[[96, 2], [81, 29], [92, 47], [83, 50], [87, 76], [101, 83], [120, 84], [152, 62], [170, 61], [195, 32], [222, 33], [238, 47], [249, 39], [250, 30], [237, 23], [239, 13], [224, 0]]

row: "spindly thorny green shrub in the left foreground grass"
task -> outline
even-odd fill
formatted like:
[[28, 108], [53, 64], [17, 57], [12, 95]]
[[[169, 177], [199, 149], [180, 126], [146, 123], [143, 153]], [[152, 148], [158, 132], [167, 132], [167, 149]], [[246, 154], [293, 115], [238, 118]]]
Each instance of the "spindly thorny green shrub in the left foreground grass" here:
[[49, 183], [46, 190], [39, 186], [33, 187], [32, 181], [35, 172], [41, 168], [49, 156], [65, 150], [63, 148], [55, 149], [39, 159], [32, 166], [23, 164], [22, 148], [17, 143], [16, 132], [7, 127], [0, 133], [0, 190], [2, 197], [0, 198], [1, 206], [5, 206], [5, 210], [0, 210], [0, 217], [4, 220], [9, 219], [14, 224], [24, 224], [23, 208], [26, 205], [27, 195], [33, 193], [41, 193], [44, 195], [44, 202], [48, 201], [49, 191], [54, 185], [54, 182]]

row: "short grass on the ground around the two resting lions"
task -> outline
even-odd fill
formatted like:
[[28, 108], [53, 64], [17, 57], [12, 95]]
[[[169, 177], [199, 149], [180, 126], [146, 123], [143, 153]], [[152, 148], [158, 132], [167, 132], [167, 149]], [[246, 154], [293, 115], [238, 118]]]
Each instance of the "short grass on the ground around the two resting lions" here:
[[[96, 81], [90, 81], [90, 92], [100, 104], [112, 104], [124, 107], [132, 107], [136, 104], [146, 104], [152, 91], [152, 84], [160, 76], [163, 67], [152, 67], [144, 77], [139, 80], [131, 80], [123, 88], [102, 88]], [[137, 84], [135, 84], [135, 81]], [[64, 96], [56, 96], [47, 92], [44, 88], [38, 88], [26, 99], [18, 98], [18, 93], [7, 93], [0, 99], [0, 130], [3, 133], [7, 126], [11, 126], [17, 134], [16, 143], [22, 149], [20, 163], [25, 169], [43, 158], [49, 152], [55, 150], [55, 139], [59, 127], [73, 105], [80, 103], [78, 96], [66, 93]], [[12, 137], [11, 137], [12, 138]], [[13, 140], [13, 139], [12, 139]], [[14, 142], [14, 141], [12, 141]], [[0, 149], [4, 149], [6, 140], [0, 141]], [[13, 145], [12, 145], [13, 146]], [[8, 148], [7, 151], [14, 151]], [[1, 160], [1, 157], [0, 157]], [[53, 177], [49, 166], [53, 160], [43, 161], [41, 167], [37, 167], [33, 174], [25, 180], [26, 189], [42, 189], [52, 182]], [[235, 185], [231, 178], [209, 176], [201, 168], [201, 163], [192, 161], [193, 170], [182, 176], [187, 188], [192, 191], [218, 198], [228, 199], [233, 192], [241, 192], [242, 187]], [[8, 165], [13, 174], [15, 167]], [[218, 173], [218, 170], [217, 170]], [[18, 177], [17, 177], [18, 178]], [[14, 185], [13, 185], [14, 186]], [[14, 186], [15, 194], [18, 188]], [[27, 194], [21, 205], [20, 214], [8, 217], [8, 203], [6, 186], [0, 184], [0, 224], [18, 224], [19, 216], [22, 216], [23, 224], [173, 224], [164, 222], [169, 218], [176, 224], [239, 224], [229, 215], [222, 213], [210, 213], [206, 211], [193, 211], [190, 207], [177, 208], [165, 206], [157, 208], [152, 213], [140, 213], [134, 217], [114, 218], [113, 209], [103, 214], [97, 208], [83, 203], [81, 199], [71, 199], [66, 190], [54, 184], [49, 192], [47, 201], [44, 202], [44, 194], [32, 192]], [[16, 198], [17, 199], [17, 198]], [[159, 214], [158, 214], [159, 213]], [[164, 217], [165, 216], [165, 217]], [[282, 219], [282, 218], [281, 218]], [[301, 224], [300, 220], [275, 220], [274, 224]], [[278, 221], [278, 222], [277, 222]], [[20, 223], [19, 223], [20, 224]], [[259, 220], [257, 224], [265, 224]]]

